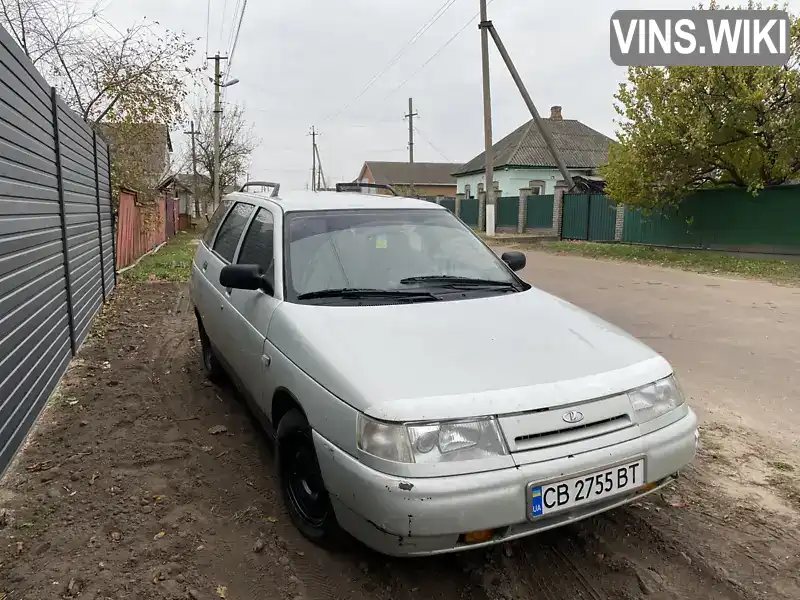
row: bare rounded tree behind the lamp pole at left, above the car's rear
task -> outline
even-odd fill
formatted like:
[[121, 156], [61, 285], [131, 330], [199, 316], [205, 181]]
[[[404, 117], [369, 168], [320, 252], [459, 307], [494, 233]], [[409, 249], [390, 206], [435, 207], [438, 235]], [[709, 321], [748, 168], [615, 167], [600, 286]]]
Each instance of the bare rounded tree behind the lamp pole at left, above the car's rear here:
[[[208, 175], [208, 190], [203, 196], [211, 197], [214, 182], [214, 108], [211, 104], [201, 105], [194, 113], [198, 126], [197, 170]], [[237, 104], [225, 107], [220, 118], [219, 186], [221, 190], [236, 184], [247, 173], [250, 155], [260, 144], [253, 133], [253, 126], [244, 116], [244, 110]], [[208, 212], [208, 206], [203, 207]]]

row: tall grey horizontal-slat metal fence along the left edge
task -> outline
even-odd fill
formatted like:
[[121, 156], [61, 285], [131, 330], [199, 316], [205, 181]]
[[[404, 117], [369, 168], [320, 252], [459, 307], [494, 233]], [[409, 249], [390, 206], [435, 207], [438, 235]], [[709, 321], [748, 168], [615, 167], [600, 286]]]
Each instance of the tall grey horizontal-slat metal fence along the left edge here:
[[109, 165], [0, 27], [0, 471], [114, 289]]

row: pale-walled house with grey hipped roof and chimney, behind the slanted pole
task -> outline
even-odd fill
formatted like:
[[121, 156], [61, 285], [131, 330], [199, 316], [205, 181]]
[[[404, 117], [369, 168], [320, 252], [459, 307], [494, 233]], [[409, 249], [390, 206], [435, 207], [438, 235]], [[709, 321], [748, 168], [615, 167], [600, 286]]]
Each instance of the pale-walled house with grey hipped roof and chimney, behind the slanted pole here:
[[[564, 119], [560, 106], [553, 106], [550, 117], [543, 121], [570, 174], [583, 181], [599, 179], [598, 168], [608, 161], [608, 149], [614, 141], [580, 121]], [[555, 194], [557, 186], [566, 185], [533, 119], [497, 142], [492, 150], [495, 189], [502, 196], [517, 196], [524, 188], [531, 189], [531, 194]], [[457, 193], [477, 198], [484, 190], [485, 170], [485, 153], [481, 152], [454, 173]]]

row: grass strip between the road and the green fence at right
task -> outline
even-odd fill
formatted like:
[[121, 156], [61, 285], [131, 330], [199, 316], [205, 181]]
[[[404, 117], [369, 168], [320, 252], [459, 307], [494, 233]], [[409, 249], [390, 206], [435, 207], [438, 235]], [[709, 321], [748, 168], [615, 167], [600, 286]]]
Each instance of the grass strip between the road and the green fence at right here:
[[800, 261], [744, 258], [708, 251], [669, 250], [631, 244], [594, 242], [541, 242], [531, 246], [557, 254], [569, 253], [612, 260], [625, 260], [697, 273], [737, 275], [776, 283], [800, 285]]

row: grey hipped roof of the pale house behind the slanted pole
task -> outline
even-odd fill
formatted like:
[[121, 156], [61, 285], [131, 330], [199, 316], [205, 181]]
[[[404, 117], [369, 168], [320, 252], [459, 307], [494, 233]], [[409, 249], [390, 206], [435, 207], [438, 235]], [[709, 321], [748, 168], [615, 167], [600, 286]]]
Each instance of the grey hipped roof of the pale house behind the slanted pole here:
[[[608, 148], [614, 141], [610, 137], [574, 119], [542, 120], [550, 129], [567, 168], [594, 169], [608, 162]], [[533, 119], [497, 142], [492, 150], [495, 168], [558, 166]], [[485, 154], [481, 152], [455, 174], [483, 171], [486, 168]]]

